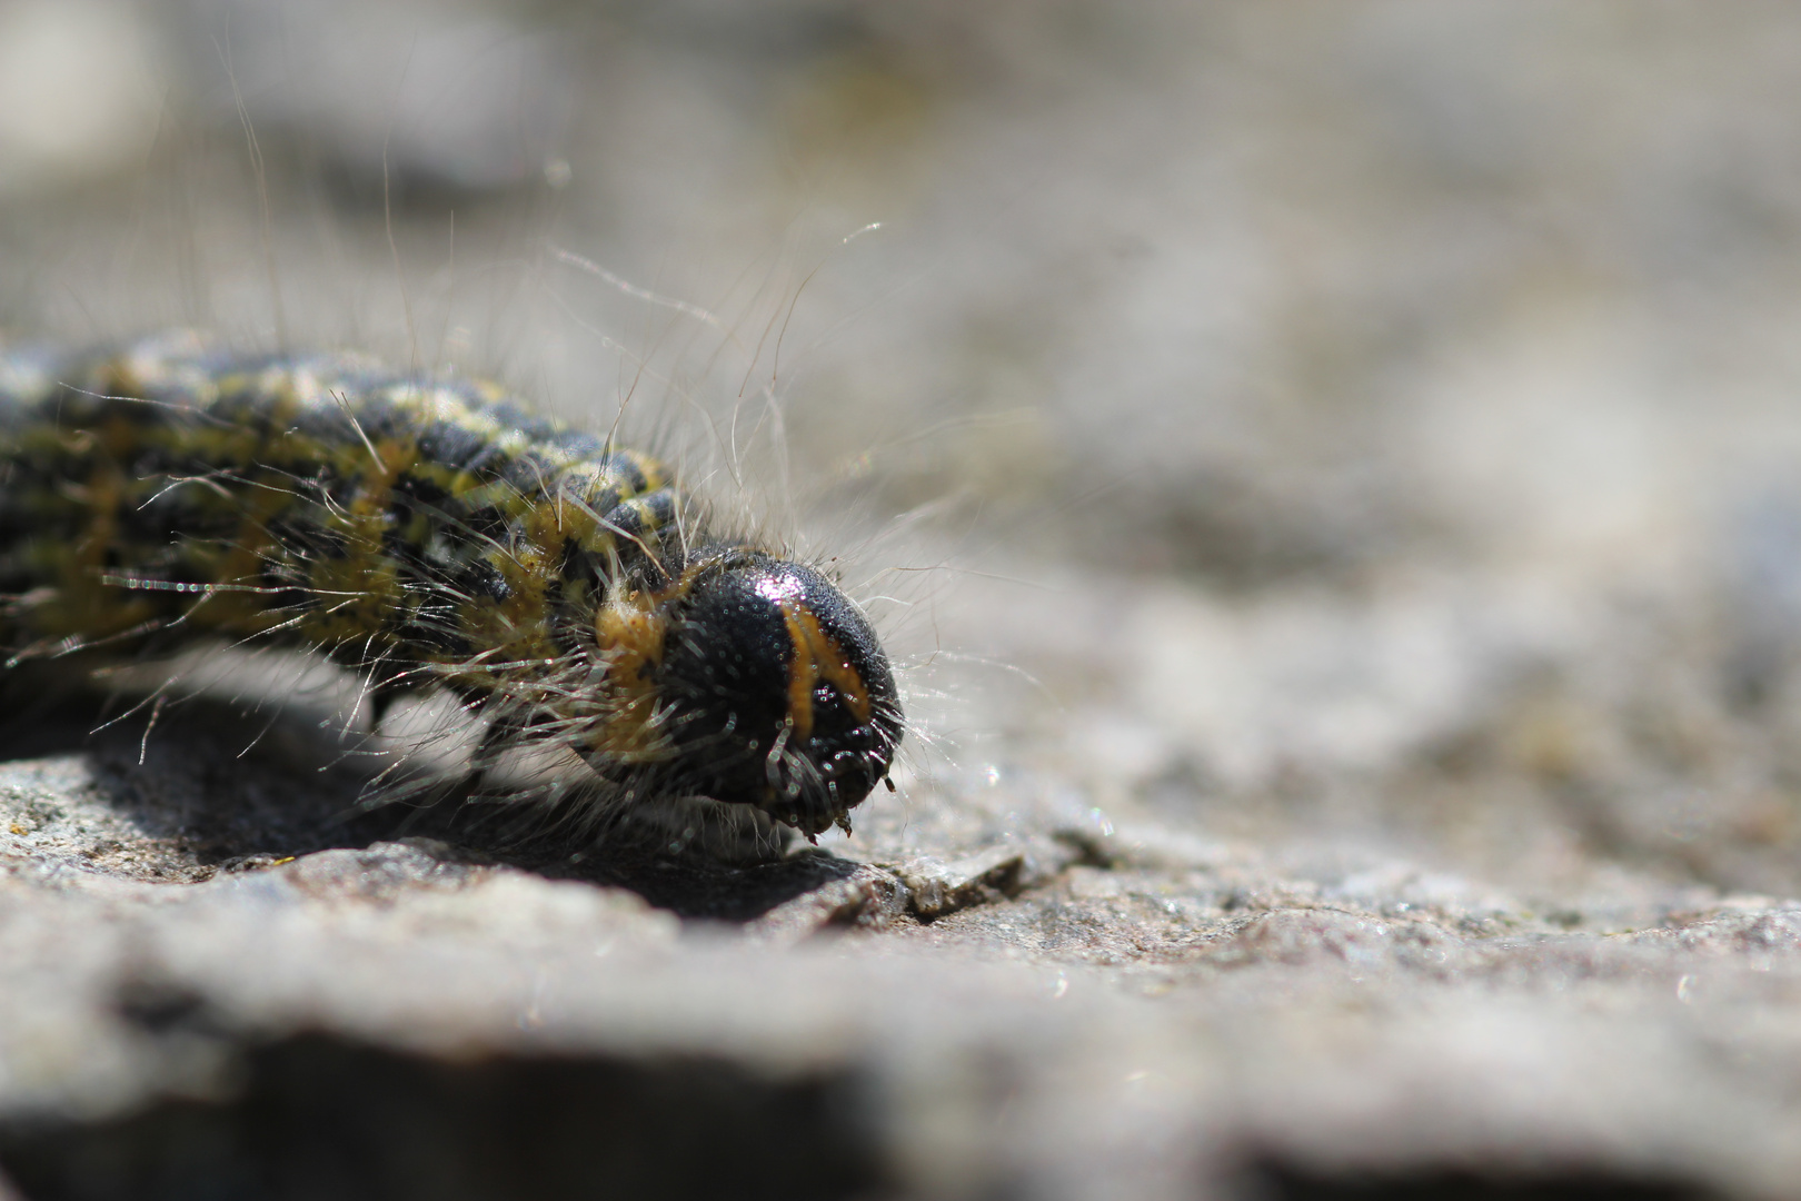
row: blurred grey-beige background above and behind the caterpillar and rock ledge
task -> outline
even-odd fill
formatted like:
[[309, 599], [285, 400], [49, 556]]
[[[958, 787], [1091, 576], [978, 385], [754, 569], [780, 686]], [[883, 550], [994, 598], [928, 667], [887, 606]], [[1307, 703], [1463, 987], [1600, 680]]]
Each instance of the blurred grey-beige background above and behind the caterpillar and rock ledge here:
[[0, 0], [7, 339], [630, 398], [913, 812], [1560, 904], [1801, 893], [1797, 247], [1781, 4]]

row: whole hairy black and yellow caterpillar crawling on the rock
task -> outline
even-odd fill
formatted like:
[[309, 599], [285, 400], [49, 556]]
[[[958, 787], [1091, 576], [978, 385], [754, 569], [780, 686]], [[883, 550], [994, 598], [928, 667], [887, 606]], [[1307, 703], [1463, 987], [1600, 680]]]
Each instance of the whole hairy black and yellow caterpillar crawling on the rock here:
[[661, 461], [490, 384], [186, 331], [0, 355], [7, 666], [297, 646], [358, 673], [376, 724], [454, 693], [484, 722], [472, 772], [549, 745], [594, 812], [848, 832], [902, 735], [882, 646], [821, 571], [708, 526]]

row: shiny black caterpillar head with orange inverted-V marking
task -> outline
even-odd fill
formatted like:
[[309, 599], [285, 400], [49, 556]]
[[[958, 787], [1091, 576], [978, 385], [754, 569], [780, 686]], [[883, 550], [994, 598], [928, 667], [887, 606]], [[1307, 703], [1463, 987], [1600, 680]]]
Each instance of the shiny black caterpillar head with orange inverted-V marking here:
[[755, 805], [809, 837], [888, 776], [900, 702], [875, 630], [812, 567], [733, 549], [668, 610], [661, 789]]

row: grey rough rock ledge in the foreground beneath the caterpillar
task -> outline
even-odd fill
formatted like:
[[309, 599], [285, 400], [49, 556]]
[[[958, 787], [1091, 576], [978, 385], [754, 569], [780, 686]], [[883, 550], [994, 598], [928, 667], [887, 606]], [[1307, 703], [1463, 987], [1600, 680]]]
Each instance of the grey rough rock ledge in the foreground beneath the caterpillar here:
[[0, 769], [27, 1197], [1797, 1196], [1801, 902], [1547, 911], [1005, 780], [531, 871], [139, 745]]

